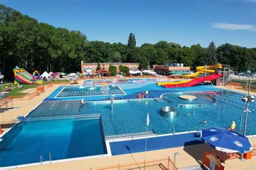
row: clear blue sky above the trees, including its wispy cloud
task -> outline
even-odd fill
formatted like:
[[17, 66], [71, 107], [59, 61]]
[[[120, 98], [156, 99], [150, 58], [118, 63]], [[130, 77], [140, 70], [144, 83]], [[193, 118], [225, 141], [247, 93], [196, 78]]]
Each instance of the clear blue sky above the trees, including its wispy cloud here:
[[256, 0], [1, 0], [56, 27], [79, 30], [89, 40], [137, 46], [160, 40], [191, 46], [228, 42], [256, 47]]

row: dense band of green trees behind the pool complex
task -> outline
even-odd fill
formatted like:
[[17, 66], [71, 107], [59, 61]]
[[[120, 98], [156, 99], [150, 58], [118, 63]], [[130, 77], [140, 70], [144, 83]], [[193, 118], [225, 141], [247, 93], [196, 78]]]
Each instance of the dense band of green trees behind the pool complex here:
[[80, 31], [39, 23], [36, 19], [0, 5], [0, 65], [2, 74], [13, 79], [12, 69], [24, 67], [29, 72], [77, 72], [84, 62], [139, 62], [140, 68], [169, 63], [184, 63], [192, 69], [201, 65], [223, 63], [233, 70], [256, 67], [256, 48], [223, 44], [207, 48], [159, 41], [136, 46], [130, 34], [127, 44], [89, 41]]

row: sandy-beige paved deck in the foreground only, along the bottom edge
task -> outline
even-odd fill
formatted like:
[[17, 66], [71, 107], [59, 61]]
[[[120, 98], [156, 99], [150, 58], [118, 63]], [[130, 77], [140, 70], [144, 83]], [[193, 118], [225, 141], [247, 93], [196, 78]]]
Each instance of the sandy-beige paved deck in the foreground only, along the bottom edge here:
[[[253, 145], [256, 145], [256, 137], [251, 137], [250, 140]], [[166, 148], [163, 150], [147, 151], [146, 160], [167, 158], [169, 156], [170, 159], [173, 160], [174, 153], [179, 152], [176, 160], [176, 165], [178, 168], [198, 166], [201, 164], [204, 151], [210, 152], [214, 151], [214, 149], [207, 144], [196, 144]], [[59, 162], [55, 164], [31, 166], [19, 169], [97, 169], [98, 167], [131, 164], [143, 160], [144, 152], [139, 152], [114, 155], [111, 157]], [[239, 159], [226, 160], [223, 165], [225, 166], [225, 169], [256, 169], [256, 156], [253, 156], [252, 159], [245, 161], [241, 161]]]

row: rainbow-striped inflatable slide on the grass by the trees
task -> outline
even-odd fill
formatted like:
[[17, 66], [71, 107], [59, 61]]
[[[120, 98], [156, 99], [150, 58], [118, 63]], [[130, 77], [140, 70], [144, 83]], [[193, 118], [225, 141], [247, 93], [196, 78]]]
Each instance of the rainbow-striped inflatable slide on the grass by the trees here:
[[35, 76], [24, 69], [14, 69], [14, 84], [43, 84], [43, 81], [35, 79]]

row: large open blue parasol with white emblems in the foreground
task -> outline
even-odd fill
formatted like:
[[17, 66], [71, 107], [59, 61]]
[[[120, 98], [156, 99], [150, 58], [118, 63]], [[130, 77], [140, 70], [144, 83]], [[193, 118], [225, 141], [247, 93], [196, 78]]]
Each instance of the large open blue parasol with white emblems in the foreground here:
[[250, 140], [230, 130], [208, 128], [201, 131], [201, 139], [218, 151], [247, 153], [253, 149]]

